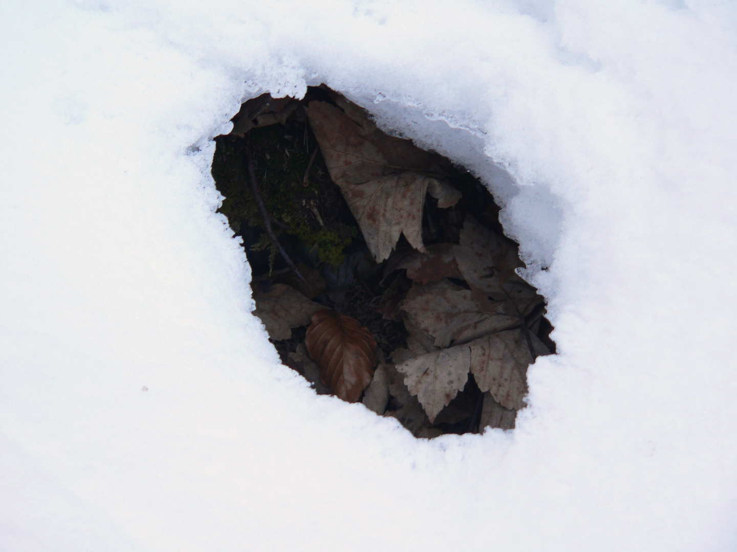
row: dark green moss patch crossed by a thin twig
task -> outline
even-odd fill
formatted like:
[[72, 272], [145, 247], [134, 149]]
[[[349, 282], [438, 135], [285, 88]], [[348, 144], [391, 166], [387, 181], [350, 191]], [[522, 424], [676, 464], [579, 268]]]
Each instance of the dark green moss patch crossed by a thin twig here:
[[[287, 127], [275, 124], [250, 132], [260, 194], [271, 216], [290, 227], [287, 230], [272, 225], [279, 241], [292, 236], [302, 250], [311, 252], [310, 256], [320, 262], [340, 264], [345, 258], [344, 250], [359, 235], [359, 230], [352, 216], [346, 219], [347, 206], [338, 187], [329, 180], [319, 153], [310, 167], [307, 185], [303, 184], [315, 141], [312, 139], [312, 150], [308, 149], [310, 140], [305, 139], [304, 122], [296, 118], [290, 118], [289, 122]], [[217, 189], [226, 197], [219, 211], [228, 217], [236, 233], [244, 235], [247, 251], [269, 251], [269, 269], [273, 269], [276, 247], [265, 234], [248, 179], [246, 144], [242, 138], [217, 139], [212, 175]], [[253, 229], [249, 240], [245, 236], [248, 232], [242, 231], [244, 223]]]

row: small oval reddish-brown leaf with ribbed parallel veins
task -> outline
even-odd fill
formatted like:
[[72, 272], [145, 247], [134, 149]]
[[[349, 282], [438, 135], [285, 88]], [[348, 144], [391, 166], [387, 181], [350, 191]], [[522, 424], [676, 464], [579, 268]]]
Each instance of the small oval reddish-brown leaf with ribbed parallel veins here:
[[336, 397], [355, 403], [374, 375], [371, 332], [350, 316], [322, 308], [312, 315], [304, 344], [320, 367], [321, 381]]

